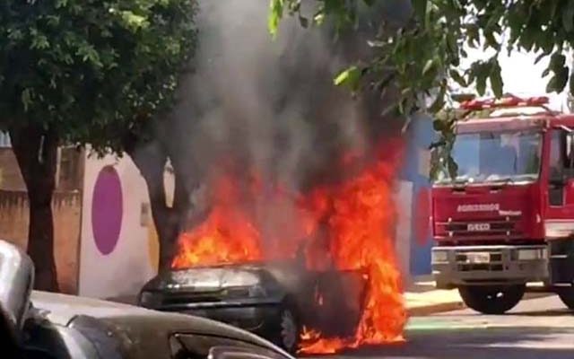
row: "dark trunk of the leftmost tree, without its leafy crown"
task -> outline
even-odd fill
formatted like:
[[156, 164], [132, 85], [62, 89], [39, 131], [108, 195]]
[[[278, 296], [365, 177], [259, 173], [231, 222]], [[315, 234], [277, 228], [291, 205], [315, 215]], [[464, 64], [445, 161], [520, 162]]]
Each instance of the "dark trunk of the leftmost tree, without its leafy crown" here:
[[58, 292], [52, 216], [58, 138], [55, 133], [35, 126], [13, 128], [10, 136], [13, 152], [28, 188], [28, 254], [35, 266], [35, 288]]

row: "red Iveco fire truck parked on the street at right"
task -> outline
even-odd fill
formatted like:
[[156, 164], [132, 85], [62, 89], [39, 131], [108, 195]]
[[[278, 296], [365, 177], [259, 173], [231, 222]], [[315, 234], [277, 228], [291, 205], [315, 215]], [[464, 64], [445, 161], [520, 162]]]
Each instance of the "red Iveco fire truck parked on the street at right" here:
[[511, 310], [529, 283], [574, 310], [574, 114], [547, 104], [462, 102], [461, 111], [488, 114], [457, 121], [457, 173], [433, 181], [432, 273], [474, 311]]

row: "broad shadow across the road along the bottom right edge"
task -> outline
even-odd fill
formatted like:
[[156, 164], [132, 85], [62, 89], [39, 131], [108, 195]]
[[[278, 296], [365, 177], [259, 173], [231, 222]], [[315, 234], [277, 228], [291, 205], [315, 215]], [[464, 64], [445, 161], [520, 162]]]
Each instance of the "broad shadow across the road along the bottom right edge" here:
[[574, 357], [573, 330], [478, 328], [416, 334], [400, 346], [363, 347], [337, 355], [358, 358], [566, 359]]

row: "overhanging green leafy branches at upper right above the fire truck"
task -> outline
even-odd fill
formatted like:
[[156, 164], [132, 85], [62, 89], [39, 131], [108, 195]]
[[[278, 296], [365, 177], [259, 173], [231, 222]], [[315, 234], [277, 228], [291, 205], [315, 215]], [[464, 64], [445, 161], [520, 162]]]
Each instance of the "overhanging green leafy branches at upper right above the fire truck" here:
[[[397, 3], [388, 0], [317, 0], [313, 13], [302, 11], [300, 0], [271, 0], [269, 30], [278, 31], [285, 14], [300, 16], [303, 26], [319, 25], [329, 19], [337, 27], [352, 26], [365, 6]], [[394, 4], [393, 4], [394, 3]], [[378, 36], [368, 39], [373, 57], [341, 72], [335, 83], [352, 91], [365, 87], [383, 91], [396, 88], [400, 94], [394, 109], [408, 118], [417, 112], [437, 115], [435, 129], [442, 138], [433, 147], [451, 175], [457, 164], [449, 148], [455, 141], [453, 84], [473, 88], [483, 95], [487, 87], [496, 97], [503, 94], [499, 55], [517, 50], [537, 54], [535, 63], [549, 58], [543, 76], [552, 74], [546, 92], [574, 92], [574, 77], [566, 64], [566, 53], [574, 42], [574, 1], [486, 1], [412, 0], [408, 22], [379, 23]], [[488, 56], [468, 59], [469, 48], [483, 48]], [[464, 66], [463, 64], [469, 65]], [[570, 79], [570, 80], [569, 80]], [[434, 173], [440, 171], [433, 162]], [[432, 174], [432, 173], [431, 173]]]

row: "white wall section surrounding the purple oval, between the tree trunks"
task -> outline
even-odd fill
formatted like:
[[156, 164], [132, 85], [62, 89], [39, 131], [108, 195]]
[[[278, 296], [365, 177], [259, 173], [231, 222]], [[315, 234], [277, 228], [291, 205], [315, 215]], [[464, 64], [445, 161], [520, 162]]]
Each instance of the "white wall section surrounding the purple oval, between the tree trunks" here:
[[[107, 165], [112, 165], [120, 178], [123, 218], [115, 248], [102, 254], [94, 239], [92, 203], [97, 199], [93, 198], [96, 179]], [[83, 188], [80, 295], [110, 298], [137, 293], [155, 275], [153, 261], [157, 259], [156, 238], [148, 228], [151, 219], [142, 211], [149, 202], [143, 178], [128, 156], [120, 160], [88, 157]]]

